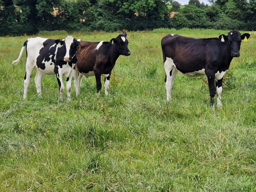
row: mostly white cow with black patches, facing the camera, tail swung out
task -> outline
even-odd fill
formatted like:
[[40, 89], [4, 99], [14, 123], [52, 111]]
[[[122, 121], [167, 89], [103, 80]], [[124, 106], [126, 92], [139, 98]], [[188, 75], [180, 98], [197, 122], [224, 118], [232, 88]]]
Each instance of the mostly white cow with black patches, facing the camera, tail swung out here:
[[76, 51], [80, 47], [80, 43], [76, 38], [67, 36], [65, 39], [47, 39], [47, 38], [29, 38], [26, 40], [20, 51], [17, 60], [12, 64], [18, 63], [22, 56], [22, 52], [26, 46], [27, 62], [26, 74], [24, 77], [24, 95], [27, 97], [28, 86], [34, 67], [37, 68], [35, 77], [36, 91], [41, 95], [41, 83], [44, 75], [56, 74], [60, 98], [64, 91], [62, 76], [67, 78], [66, 88], [68, 100], [70, 99], [71, 80], [73, 76], [73, 68], [76, 64]]

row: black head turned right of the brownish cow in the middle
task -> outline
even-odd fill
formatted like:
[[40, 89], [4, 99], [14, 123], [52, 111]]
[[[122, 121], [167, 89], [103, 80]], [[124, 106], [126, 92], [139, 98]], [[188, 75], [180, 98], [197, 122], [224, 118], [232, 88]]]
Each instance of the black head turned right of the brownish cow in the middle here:
[[112, 38], [110, 42], [115, 46], [116, 51], [120, 55], [129, 56], [131, 54], [130, 50], [128, 49], [128, 40], [126, 39], [126, 32], [124, 31], [123, 34], [117, 36], [117, 38]]

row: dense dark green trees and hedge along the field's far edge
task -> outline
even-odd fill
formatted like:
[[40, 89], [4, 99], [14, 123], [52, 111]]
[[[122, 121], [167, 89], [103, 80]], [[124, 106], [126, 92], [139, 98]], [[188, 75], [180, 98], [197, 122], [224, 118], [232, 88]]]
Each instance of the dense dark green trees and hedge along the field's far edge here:
[[254, 30], [256, 0], [209, 0], [209, 4], [190, 0], [180, 9], [173, 0], [0, 0], [0, 36], [42, 30]]

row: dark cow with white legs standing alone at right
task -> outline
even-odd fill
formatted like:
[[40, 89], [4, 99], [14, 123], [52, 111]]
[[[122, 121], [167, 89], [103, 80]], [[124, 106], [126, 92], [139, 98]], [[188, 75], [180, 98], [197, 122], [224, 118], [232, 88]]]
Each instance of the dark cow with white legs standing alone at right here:
[[[190, 38], [169, 34], [162, 38], [164, 69], [166, 72], [166, 96], [171, 98], [173, 81], [180, 74], [188, 77], [206, 75], [210, 90], [210, 104], [214, 103], [217, 93], [217, 106], [221, 107], [223, 76], [234, 57], [240, 56], [240, 45], [244, 38], [238, 31], [230, 31], [219, 38]], [[216, 81], [216, 84], [215, 84]]]

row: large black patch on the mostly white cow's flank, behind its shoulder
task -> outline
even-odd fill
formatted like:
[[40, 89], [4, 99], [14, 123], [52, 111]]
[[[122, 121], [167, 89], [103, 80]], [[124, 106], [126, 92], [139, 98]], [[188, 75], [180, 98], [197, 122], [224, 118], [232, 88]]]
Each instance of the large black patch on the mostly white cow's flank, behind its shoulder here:
[[53, 65], [55, 62], [54, 57], [57, 45], [54, 39], [47, 39], [43, 42], [43, 46], [39, 51], [39, 56], [36, 58], [36, 65], [38, 68], [45, 70], [45, 64], [43, 62], [49, 62], [51, 60], [50, 65]]

